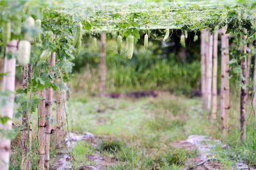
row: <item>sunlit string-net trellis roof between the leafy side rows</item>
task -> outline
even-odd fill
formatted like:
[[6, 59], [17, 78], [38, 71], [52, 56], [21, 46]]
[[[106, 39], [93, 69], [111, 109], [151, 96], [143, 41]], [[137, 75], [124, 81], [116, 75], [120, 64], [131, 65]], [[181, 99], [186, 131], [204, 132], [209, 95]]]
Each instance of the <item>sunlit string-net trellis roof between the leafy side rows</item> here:
[[[136, 29], [195, 29], [227, 20], [234, 0], [210, 1], [65, 1], [59, 12], [90, 24], [93, 31]], [[250, 5], [253, 1], [243, 1]], [[252, 10], [255, 14], [255, 10]], [[253, 17], [255, 19], [255, 15]]]

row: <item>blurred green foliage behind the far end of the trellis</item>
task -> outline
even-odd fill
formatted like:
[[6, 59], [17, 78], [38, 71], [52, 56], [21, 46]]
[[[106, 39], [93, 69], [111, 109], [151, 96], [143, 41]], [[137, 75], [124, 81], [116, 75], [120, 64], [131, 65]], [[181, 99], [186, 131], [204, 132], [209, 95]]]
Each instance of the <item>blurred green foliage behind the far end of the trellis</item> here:
[[[155, 32], [163, 35], [161, 31]], [[122, 52], [118, 54], [117, 35], [108, 34], [107, 91], [168, 90], [175, 94], [189, 95], [200, 90], [200, 41], [193, 42], [195, 33], [189, 32], [187, 46], [183, 48], [179, 43], [180, 34], [179, 30], [173, 31], [166, 42], [150, 37], [148, 50], [143, 46], [141, 34], [131, 60], [125, 56], [125, 39]], [[95, 37], [98, 39], [97, 46], [93, 43]], [[76, 91], [97, 94], [100, 78], [100, 35], [86, 36], [83, 41], [82, 52], [74, 60], [71, 85]]]

